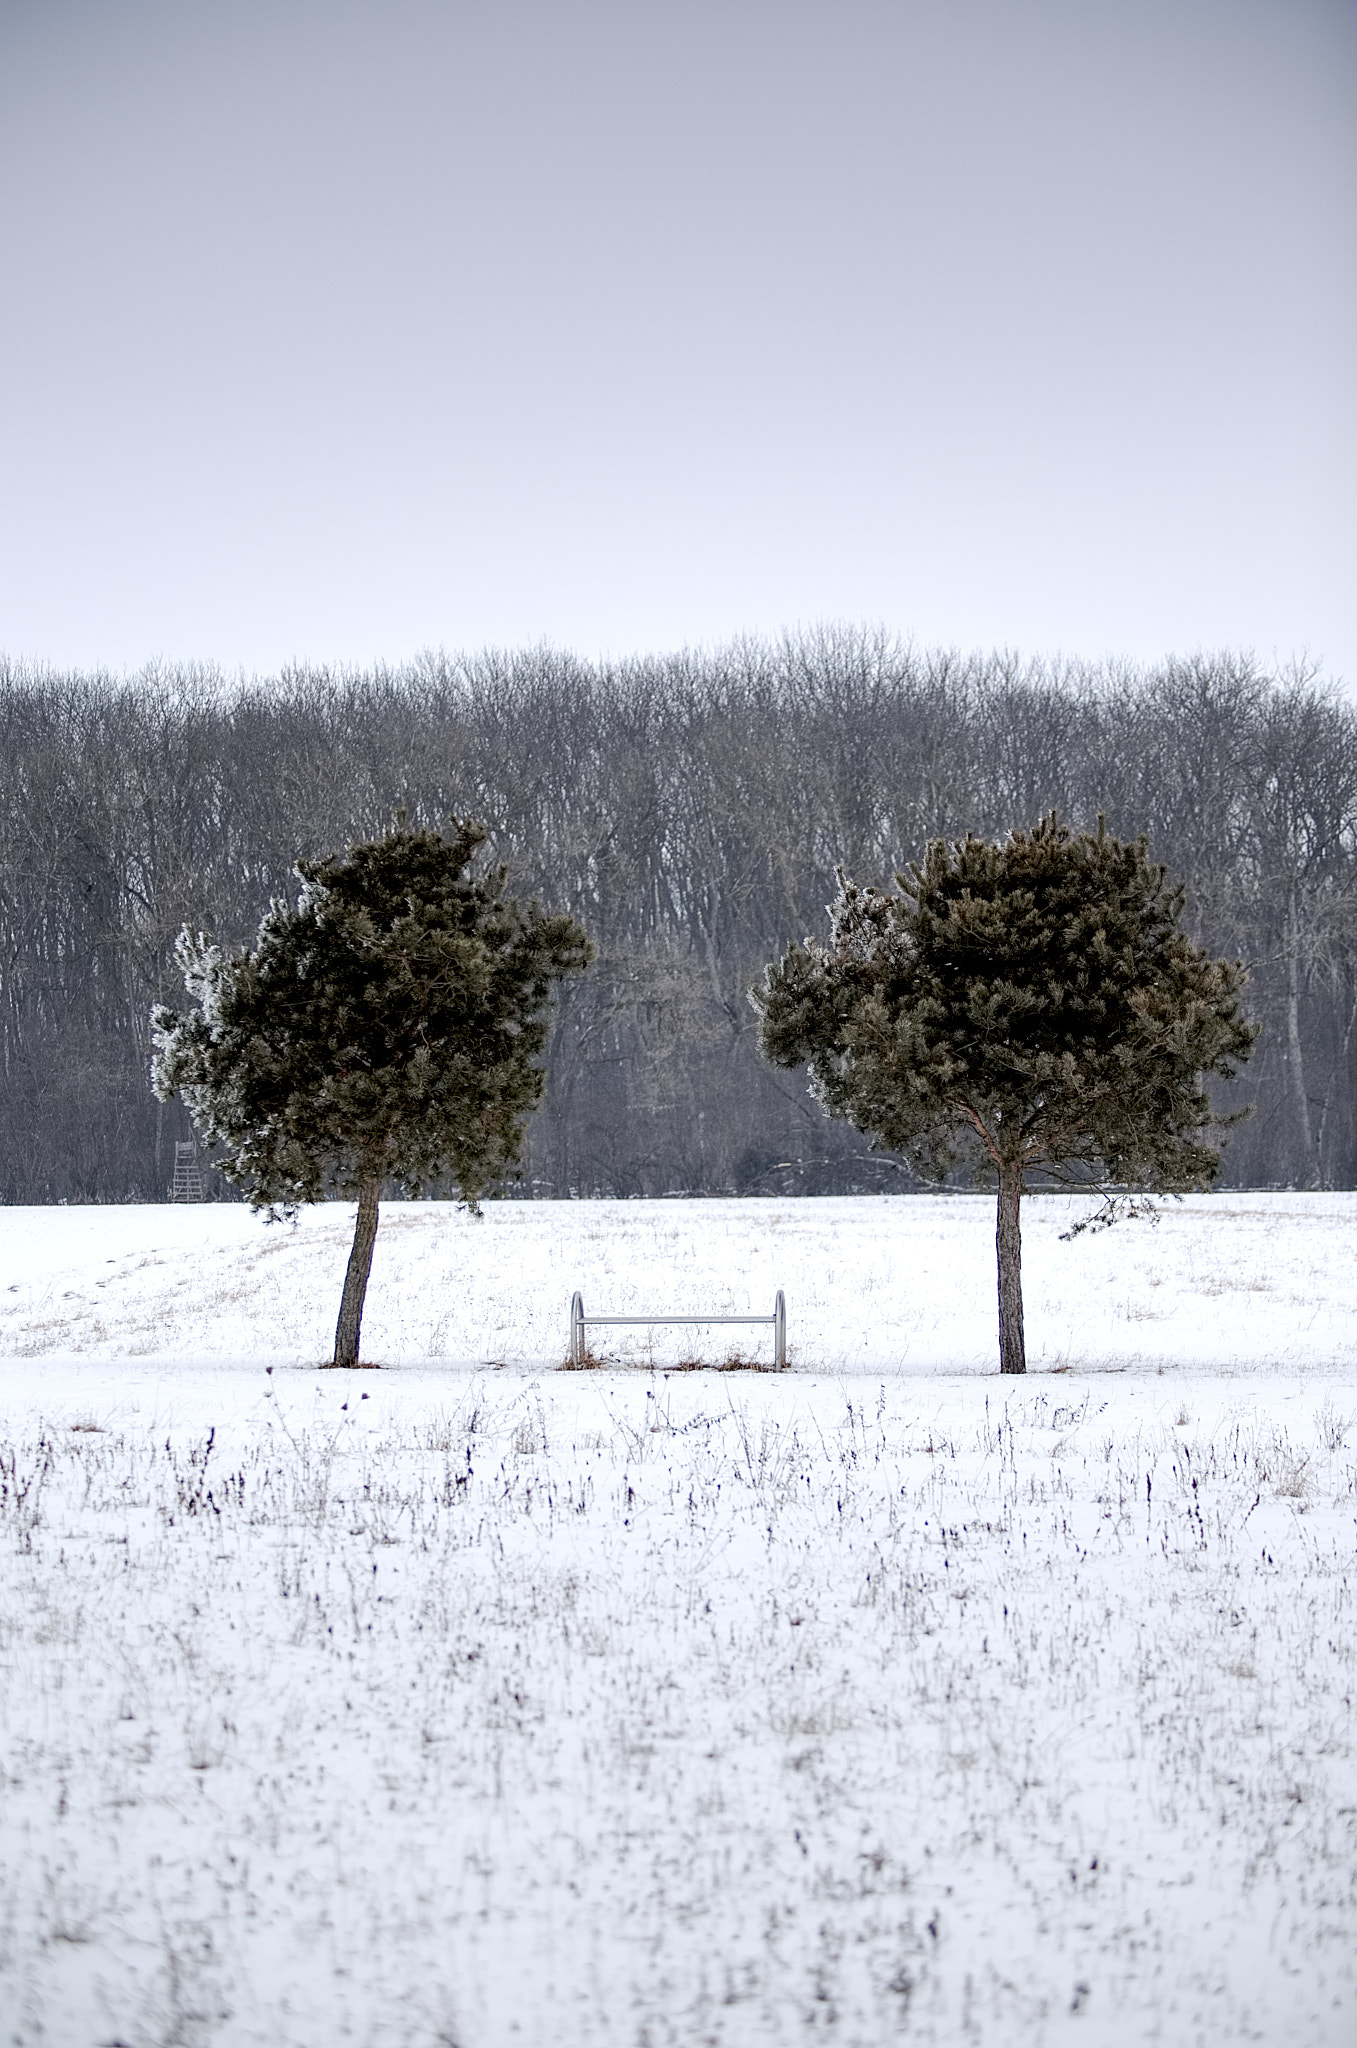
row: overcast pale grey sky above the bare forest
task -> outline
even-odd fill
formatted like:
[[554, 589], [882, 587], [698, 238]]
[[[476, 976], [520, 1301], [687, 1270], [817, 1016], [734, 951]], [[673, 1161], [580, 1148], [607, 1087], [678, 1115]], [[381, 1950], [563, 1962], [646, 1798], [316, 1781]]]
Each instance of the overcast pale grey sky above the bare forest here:
[[0, 0], [0, 649], [1357, 682], [1353, 0]]

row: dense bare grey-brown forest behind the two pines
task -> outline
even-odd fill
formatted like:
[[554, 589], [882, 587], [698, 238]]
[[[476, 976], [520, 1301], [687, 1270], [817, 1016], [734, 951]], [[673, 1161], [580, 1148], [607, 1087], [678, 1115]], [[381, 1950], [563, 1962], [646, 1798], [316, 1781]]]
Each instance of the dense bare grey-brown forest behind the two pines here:
[[821, 633], [585, 664], [430, 655], [233, 686], [0, 670], [0, 1198], [160, 1198], [147, 1087], [180, 924], [248, 940], [293, 862], [448, 811], [573, 911], [530, 1145], [540, 1194], [903, 1186], [755, 1055], [747, 987], [823, 932], [833, 868], [1058, 809], [1148, 831], [1263, 1024], [1234, 1184], [1357, 1182], [1357, 717], [1308, 674], [917, 653]]

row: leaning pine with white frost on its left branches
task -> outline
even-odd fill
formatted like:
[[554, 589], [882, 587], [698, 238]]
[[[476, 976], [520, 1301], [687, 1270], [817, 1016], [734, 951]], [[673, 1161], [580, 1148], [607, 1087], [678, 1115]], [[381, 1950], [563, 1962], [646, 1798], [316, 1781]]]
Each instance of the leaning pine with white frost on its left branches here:
[[225, 956], [182, 932], [196, 1008], [151, 1012], [151, 1085], [180, 1094], [215, 1163], [256, 1208], [356, 1198], [334, 1341], [358, 1364], [379, 1200], [452, 1182], [473, 1208], [514, 1169], [544, 1071], [553, 979], [594, 948], [565, 915], [473, 874], [485, 827], [407, 831], [301, 860], [256, 944]]

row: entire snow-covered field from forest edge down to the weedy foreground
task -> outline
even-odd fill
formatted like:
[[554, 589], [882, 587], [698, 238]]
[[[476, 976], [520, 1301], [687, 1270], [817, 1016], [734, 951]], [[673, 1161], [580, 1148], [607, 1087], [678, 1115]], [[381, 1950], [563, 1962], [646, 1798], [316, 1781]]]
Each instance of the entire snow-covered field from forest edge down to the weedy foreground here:
[[1357, 2040], [1357, 1198], [350, 1217], [0, 1210], [0, 2042]]

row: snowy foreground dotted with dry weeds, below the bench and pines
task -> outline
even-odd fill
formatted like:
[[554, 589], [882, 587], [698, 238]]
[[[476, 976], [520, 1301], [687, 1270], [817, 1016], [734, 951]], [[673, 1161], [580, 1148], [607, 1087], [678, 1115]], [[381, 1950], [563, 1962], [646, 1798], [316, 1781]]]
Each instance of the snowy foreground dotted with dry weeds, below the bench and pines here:
[[6, 1446], [16, 2040], [1351, 2038], [1322, 1411], [497, 1384]]

